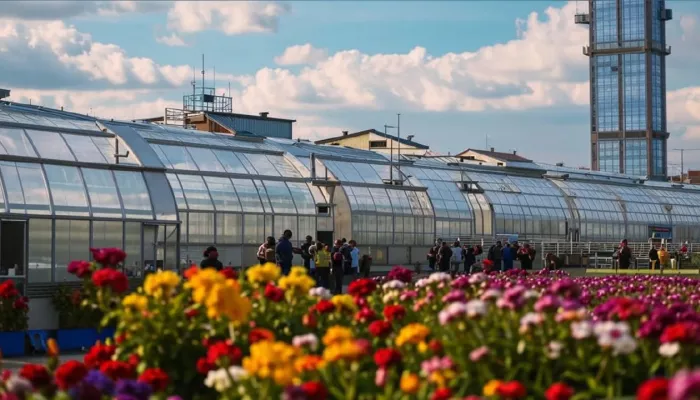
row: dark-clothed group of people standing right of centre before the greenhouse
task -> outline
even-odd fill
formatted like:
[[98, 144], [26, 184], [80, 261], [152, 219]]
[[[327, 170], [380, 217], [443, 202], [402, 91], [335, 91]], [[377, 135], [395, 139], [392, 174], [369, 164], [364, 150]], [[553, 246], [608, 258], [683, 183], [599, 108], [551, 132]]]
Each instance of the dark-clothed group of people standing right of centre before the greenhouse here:
[[[428, 266], [431, 270], [441, 272], [459, 272], [462, 264], [464, 272], [471, 273], [476, 258], [483, 254], [481, 245], [462, 245], [459, 240], [455, 241], [452, 246], [447, 241], [438, 239], [435, 246], [428, 251]], [[511, 243], [506, 242], [505, 246], [500, 242], [496, 242], [489, 248], [486, 258], [493, 264], [493, 269], [498, 271], [508, 271], [513, 269], [514, 261], [520, 261], [522, 269], [532, 269], [532, 263], [535, 260], [535, 249], [529, 244], [520, 246], [517, 241]]]

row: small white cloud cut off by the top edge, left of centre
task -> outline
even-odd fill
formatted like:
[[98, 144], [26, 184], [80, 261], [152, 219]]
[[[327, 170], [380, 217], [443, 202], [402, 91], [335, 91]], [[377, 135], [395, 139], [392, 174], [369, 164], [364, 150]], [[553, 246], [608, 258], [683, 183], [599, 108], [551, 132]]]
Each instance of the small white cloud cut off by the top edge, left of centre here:
[[275, 32], [285, 3], [254, 1], [176, 2], [168, 12], [168, 27], [183, 33], [217, 30], [226, 35]]

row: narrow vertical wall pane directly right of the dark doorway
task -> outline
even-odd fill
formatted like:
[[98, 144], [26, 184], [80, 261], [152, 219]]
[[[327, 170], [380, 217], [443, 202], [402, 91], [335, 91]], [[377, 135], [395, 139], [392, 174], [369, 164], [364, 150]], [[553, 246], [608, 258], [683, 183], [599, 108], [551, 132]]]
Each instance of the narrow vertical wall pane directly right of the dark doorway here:
[[27, 266], [29, 282], [51, 282], [51, 239], [53, 222], [50, 219], [29, 220], [29, 242], [27, 243]]

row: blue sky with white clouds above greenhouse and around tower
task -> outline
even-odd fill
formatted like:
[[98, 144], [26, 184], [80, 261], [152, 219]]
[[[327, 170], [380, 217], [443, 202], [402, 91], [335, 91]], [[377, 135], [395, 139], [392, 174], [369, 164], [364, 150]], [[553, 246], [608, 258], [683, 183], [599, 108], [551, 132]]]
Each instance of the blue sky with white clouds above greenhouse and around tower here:
[[[667, 6], [674, 10], [667, 24], [674, 48], [667, 61], [670, 147], [700, 148], [700, 2]], [[215, 66], [218, 91], [231, 82], [234, 111], [295, 118], [299, 136], [378, 128], [401, 112], [402, 132], [436, 151], [484, 147], [488, 136], [503, 151], [589, 163], [581, 54], [587, 33], [573, 24], [575, 3], [55, 1], [50, 12], [47, 7], [3, 2], [0, 86], [13, 89], [13, 99], [92, 109], [102, 117], [162, 115], [191, 90], [189, 67], [199, 71], [204, 53], [208, 81]], [[578, 9], [585, 8], [580, 1]], [[669, 158], [673, 164], [678, 157]], [[700, 152], [685, 158], [700, 167]]]

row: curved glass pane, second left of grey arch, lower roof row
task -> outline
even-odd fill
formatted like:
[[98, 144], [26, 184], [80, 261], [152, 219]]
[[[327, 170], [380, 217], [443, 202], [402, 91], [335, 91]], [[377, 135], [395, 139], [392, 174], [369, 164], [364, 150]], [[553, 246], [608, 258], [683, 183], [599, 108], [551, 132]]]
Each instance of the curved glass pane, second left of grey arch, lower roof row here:
[[92, 216], [122, 218], [122, 206], [112, 173], [103, 169], [83, 168], [83, 178], [90, 196]]

